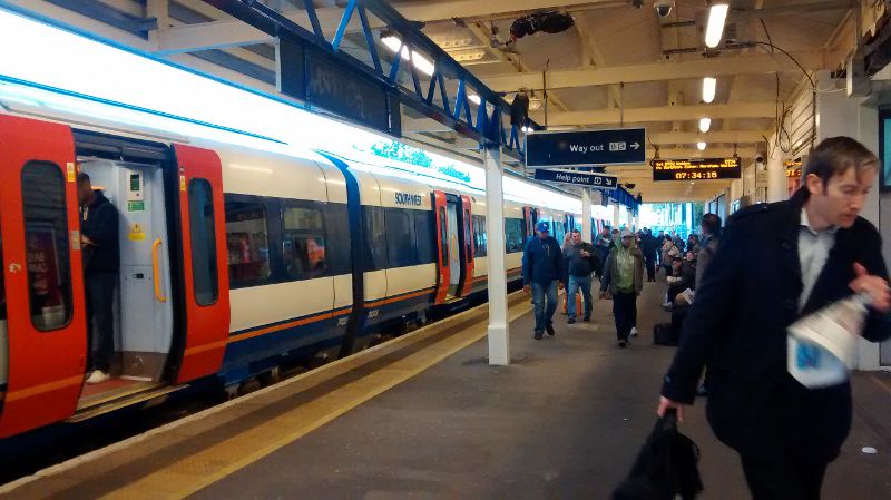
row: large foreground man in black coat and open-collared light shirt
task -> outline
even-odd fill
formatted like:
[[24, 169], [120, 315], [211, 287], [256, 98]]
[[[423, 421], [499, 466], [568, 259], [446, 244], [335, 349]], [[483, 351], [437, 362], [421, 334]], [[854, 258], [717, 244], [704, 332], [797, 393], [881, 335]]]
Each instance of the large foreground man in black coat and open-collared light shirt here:
[[706, 369], [708, 422], [736, 450], [755, 500], [816, 500], [851, 427], [851, 388], [809, 390], [786, 371], [786, 327], [864, 292], [862, 335], [891, 336], [879, 233], [858, 216], [879, 160], [848, 137], [821, 143], [792, 199], [732, 218], [684, 322], [658, 413], [692, 404]]

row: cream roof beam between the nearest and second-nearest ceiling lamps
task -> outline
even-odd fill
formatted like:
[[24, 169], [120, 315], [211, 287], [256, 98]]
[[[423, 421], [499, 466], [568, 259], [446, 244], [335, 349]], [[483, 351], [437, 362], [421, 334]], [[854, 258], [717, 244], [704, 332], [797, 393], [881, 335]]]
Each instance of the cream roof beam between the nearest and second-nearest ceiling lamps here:
[[[828, 58], [823, 52], [793, 52], [792, 56], [807, 70], [830, 69]], [[678, 62], [653, 62], [551, 71], [548, 75], [548, 87], [560, 89], [727, 75], [760, 75], [779, 71], [801, 71], [801, 69], [791, 59], [782, 55], [751, 53]], [[489, 88], [499, 92], [515, 91], [519, 88], [538, 89], [541, 87], [541, 73], [539, 72], [495, 75], [482, 79]]]

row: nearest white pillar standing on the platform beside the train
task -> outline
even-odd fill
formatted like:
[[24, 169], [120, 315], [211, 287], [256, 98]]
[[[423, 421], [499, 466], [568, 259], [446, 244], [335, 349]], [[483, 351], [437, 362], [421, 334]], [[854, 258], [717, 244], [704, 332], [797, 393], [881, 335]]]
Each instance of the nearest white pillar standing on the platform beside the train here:
[[505, 266], [505, 194], [501, 149], [483, 151], [486, 167], [486, 229], [489, 239], [489, 364], [510, 364], [508, 286]]

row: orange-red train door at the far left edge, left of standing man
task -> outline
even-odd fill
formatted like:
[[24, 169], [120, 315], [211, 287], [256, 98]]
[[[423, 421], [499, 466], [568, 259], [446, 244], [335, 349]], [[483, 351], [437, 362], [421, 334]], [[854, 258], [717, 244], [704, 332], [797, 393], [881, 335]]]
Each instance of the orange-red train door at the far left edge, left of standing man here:
[[74, 414], [84, 383], [87, 320], [71, 129], [0, 116], [0, 190], [4, 438]]

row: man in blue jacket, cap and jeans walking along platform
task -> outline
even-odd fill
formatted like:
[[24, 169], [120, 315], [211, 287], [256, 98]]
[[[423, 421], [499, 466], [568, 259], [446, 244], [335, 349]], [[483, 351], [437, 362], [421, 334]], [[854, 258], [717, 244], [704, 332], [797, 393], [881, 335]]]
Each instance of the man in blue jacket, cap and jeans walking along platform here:
[[[550, 224], [536, 225], [538, 236], [529, 238], [522, 253], [522, 290], [532, 292], [536, 312], [536, 340], [545, 331], [554, 335], [554, 312], [557, 310], [557, 287], [564, 287], [564, 253], [550, 236]], [[547, 306], [545, 300], [547, 298]]]

